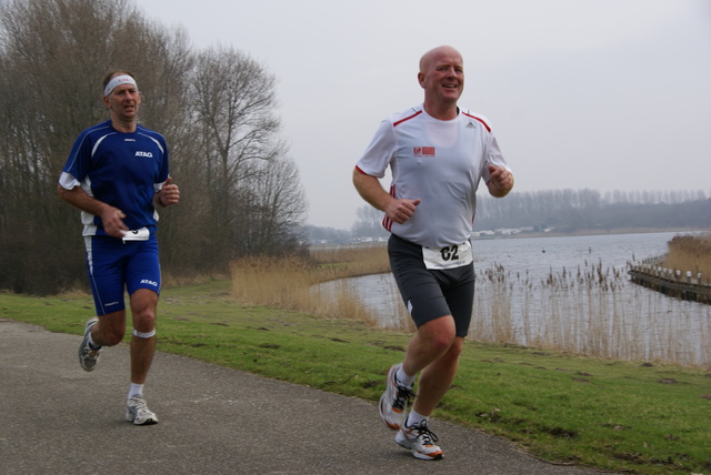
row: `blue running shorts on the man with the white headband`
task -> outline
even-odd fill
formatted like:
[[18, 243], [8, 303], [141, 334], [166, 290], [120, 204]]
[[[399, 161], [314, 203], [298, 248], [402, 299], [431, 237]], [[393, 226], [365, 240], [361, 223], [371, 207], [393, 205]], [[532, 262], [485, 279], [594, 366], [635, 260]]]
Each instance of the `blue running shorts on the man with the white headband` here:
[[126, 309], [123, 292], [139, 289], [160, 294], [160, 261], [156, 229], [147, 241], [122, 241], [111, 236], [84, 236], [87, 269], [97, 315]]

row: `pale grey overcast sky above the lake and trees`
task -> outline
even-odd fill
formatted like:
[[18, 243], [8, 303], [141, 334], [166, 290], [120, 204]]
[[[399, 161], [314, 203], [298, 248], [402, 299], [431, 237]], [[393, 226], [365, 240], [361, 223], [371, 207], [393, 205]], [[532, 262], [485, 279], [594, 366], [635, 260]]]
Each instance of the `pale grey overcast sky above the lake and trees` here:
[[382, 119], [422, 102], [418, 62], [441, 44], [462, 53], [460, 104], [492, 122], [514, 191], [711, 194], [711, 1], [137, 4], [196, 49], [234, 47], [277, 78], [310, 224], [350, 229], [364, 205], [353, 166]]

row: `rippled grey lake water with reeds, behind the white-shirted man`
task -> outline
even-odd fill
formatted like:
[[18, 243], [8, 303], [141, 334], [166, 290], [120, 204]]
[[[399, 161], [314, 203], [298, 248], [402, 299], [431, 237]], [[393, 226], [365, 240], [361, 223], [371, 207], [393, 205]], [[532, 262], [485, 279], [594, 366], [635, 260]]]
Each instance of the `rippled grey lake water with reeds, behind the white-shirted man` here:
[[[711, 367], [711, 305], [668, 297], [627, 275], [629, 262], [664, 254], [677, 234], [474, 239], [470, 337]], [[346, 285], [379, 326], [411, 329], [391, 274]]]

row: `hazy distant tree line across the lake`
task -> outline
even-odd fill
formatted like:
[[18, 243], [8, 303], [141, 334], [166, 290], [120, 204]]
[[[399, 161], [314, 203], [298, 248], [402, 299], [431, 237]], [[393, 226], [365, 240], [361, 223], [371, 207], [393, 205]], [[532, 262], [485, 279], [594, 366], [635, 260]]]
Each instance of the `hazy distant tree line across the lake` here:
[[[473, 231], [581, 231], [711, 229], [711, 198], [703, 191], [548, 190], [518, 192], [504, 199], [477, 196]], [[308, 229], [311, 242], [349, 242], [388, 236], [383, 213], [363, 205], [350, 230]]]

